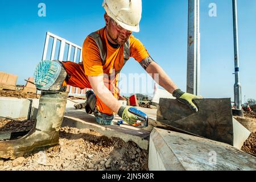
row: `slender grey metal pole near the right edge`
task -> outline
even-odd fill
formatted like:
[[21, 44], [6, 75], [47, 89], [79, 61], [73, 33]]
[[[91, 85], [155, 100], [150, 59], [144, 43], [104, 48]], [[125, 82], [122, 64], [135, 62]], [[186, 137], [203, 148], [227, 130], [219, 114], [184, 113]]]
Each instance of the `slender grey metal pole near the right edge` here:
[[233, 32], [234, 32], [234, 106], [237, 110], [242, 110], [241, 83], [239, 77], [239, 53], [238, 53], [238, 26], [237, 26], [237, 1], [233, 0]]

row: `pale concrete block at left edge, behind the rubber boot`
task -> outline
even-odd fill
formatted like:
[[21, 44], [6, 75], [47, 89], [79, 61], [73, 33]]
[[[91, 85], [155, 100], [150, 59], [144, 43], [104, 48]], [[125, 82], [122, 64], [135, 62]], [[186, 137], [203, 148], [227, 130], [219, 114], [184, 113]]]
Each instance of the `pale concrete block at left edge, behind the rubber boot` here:
[[30, 100], [23, 98], [0, 97], [0, 117], [27, 119]]

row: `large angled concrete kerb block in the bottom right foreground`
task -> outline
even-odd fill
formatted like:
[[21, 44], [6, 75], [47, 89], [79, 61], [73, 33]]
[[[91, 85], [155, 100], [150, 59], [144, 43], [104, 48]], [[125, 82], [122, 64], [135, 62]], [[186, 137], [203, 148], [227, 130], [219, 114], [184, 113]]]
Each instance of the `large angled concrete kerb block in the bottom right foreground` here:
[[229, 144], [163, 129], [152, 130], [148, 168], [156, 171], [256, 170], [256, 158]]

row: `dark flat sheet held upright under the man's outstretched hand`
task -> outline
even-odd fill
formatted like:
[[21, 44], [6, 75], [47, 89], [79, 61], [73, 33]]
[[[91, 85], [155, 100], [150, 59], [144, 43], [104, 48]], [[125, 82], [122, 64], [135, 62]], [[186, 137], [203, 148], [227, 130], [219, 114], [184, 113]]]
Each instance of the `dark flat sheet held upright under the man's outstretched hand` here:
[[233, 145], [233, 121], [230, 98], [195, 100], [195, 113], [177, 100], [160, 98], [157, 121], [201, 137]]

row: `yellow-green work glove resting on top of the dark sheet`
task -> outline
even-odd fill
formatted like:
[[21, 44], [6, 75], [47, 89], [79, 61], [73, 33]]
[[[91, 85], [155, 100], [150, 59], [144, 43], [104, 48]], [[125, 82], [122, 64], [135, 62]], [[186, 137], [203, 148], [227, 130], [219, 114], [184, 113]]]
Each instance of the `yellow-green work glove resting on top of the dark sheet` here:
[[174, 92], [172, 93], [172, 96], [176, 97], [179, 102], [187, 105], [191, 110], [195, 112], [197, 112], [198, 109], [196, 105], [193, 103], [193, 100], [197, 98], [203, 98], [201, 96], [197, 97], [193, 94], [182, 92], [180, 89], [174, 90]]

